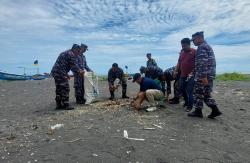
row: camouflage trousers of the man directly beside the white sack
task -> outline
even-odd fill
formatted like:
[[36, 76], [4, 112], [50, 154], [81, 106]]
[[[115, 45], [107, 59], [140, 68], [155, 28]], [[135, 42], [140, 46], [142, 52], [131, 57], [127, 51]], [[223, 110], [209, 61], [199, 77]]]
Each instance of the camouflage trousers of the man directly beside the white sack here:
[[76, 99], [84, 98], [84, 77], [80, 75], [74, 75], [74, 88]]

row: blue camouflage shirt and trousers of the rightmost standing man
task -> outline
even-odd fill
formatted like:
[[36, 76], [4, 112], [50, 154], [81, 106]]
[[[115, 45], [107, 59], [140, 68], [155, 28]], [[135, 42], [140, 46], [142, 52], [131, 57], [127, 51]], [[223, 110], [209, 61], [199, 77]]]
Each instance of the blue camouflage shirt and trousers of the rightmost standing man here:
[[[194, 71], [194, 106], [195, 109], [203, 108], [203, 101], [207, 106], [216, 105], [215, 100], [211, 97], [213, 89], [213, 80], [216, 74], [216, 61], [213, 49], [204, 41], [198, 46], [195, 57]], [[201, 82], [202, 78], [208, 79], [208, 85], [204, 86]]]

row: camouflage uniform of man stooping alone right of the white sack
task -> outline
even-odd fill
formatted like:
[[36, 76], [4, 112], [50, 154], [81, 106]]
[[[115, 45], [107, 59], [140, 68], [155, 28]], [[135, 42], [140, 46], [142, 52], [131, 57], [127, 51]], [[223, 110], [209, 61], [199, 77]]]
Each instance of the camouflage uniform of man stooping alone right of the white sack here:
[[112, 71], [112, 68], [109, 69], [108, 72], [108, 83], [109, 83], [109, 91], [111, 96], [114, 95], [114, 90], [112, 90], [112, 86], [114, 86], [114, 81], [115, 79], [119, 79], [120, 83], [122, 85], [122, 95], [126, 96], [126, 91], [127, 91], [127, 81], [125, 79], [123, 70], [118, 67], [116, 72]]

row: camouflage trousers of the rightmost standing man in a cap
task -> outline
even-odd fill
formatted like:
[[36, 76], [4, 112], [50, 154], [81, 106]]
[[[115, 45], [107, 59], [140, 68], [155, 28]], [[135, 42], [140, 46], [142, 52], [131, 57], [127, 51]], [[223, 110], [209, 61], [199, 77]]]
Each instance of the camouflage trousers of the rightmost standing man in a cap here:
[[208, 107], [215, 106], [216, 102], [211, 96], [213, 89], [213, 79], [208, 79], [208, 85], [204, 86], [200, 81], [194, 84], [194, 106], [195, 109], [202, 109], [203, 102]]

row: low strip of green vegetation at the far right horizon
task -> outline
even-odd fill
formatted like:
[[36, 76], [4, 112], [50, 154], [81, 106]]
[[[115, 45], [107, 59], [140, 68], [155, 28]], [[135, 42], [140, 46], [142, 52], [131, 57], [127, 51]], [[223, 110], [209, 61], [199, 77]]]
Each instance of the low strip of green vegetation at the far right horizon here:
[[245, 81], [250, 80], [250, 76], [246, 74], [240, 74], [240, 73], [224, 73], [221, 75], [217, 75], [216, 80], [221, 81]]

